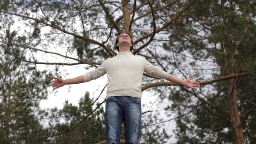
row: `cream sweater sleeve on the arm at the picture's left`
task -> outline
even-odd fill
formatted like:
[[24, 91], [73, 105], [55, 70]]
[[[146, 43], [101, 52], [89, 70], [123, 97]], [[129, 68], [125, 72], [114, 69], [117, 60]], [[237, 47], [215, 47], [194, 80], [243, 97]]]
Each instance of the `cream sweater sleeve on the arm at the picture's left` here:
[[94, 69], [91, 72], [83, 75], [84, 82], [89, 82], [93, 79], [98, 79], [99, 77], [105, 74], [106, 74], [105, 62], [103, 62], [97, 69]]

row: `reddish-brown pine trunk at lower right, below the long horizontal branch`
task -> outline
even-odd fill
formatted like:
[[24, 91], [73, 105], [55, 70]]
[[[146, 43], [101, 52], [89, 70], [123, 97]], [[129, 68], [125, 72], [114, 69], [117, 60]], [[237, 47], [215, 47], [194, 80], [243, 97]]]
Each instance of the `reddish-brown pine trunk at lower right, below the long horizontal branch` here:
[[232, 118], [233, 128], [235, 132], [236, 144], [244, 144], [243, 126], [241, 124], [240, 115], [237, 105], [237, 93], [235, 79], [229, 80], [229, 97], [230, 97], [230, 116]]

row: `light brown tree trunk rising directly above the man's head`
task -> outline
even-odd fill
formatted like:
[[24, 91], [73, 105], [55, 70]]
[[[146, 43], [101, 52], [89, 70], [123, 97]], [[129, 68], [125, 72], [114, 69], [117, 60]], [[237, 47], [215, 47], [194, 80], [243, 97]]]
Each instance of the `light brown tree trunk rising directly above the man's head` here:
[[131, 29], [129, 30], [129, 26], [131, 24], [130, 10], [129, 10], [129, 0], [122, 0], [122, 10], [124, 13], [124, 29], [125, 32], [128, 32], [132, 35]]

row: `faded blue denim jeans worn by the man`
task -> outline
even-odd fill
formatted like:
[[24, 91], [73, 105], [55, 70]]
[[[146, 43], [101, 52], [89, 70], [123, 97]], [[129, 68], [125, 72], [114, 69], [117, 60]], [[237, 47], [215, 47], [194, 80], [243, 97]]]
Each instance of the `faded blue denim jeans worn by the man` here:
[[112, 96], [106, 100], [107, 144], [119, 144], [121, 126], [125, 124], [125, 143], [138, 144], [141, 132], [141, 98]]

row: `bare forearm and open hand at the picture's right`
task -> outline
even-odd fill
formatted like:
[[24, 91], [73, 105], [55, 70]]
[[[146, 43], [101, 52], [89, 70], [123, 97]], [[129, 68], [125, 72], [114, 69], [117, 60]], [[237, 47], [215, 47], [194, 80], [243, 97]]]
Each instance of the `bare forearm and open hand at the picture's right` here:
[[197, 87], [200, 86], [200, 83], [199, 82], [192, 82], [191, 81], [192, 79], [194, 79], [194, 77], [183, 80], [183, 79], [179, 79], [179, 78], [177, 78], [177, 77], [175, 77], [174, 75], [171, 75], [171, 74], [168, 74], [168, 77], [167, 77], [167, 80], [170, 81], [170, 82], [181, 84], [181, 85], [187, 86], [187, 87], [192, 88], [192, 89], [197, 89]]

